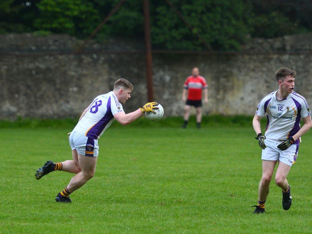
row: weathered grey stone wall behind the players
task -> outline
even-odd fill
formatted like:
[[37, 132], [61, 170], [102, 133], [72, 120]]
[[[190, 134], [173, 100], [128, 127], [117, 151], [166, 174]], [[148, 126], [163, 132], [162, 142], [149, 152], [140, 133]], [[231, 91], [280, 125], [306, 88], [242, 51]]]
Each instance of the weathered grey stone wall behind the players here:
[[[278, 89], [275, 71], [286, 66], [297, 71], [295, 91], [312, 105], [312, 34], [255, 39], [245, 51], [295, 51], [290, 54], [154, 54], [154, 99], [166, 115], [183, 115], [183, 82], [197, 66], [208, 82], [209, 103], [204, 114], [253, 115], [263, 96]], [[110, 91], [116, 79], [134, 85], [129, 112], [147, 102], [145, 54], [22, 54], [12, 51], [73, 51], [80, 40], [67, 35], [34, 37], [31, 34], [0, 35], [0, 118], [76, 117], [99, 94]], [[136, 41], [108, 41], [91, 49], [142, 49]], [[267, 50], [270, 48], [270, 50]]]

